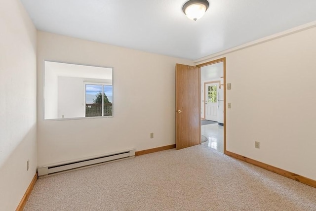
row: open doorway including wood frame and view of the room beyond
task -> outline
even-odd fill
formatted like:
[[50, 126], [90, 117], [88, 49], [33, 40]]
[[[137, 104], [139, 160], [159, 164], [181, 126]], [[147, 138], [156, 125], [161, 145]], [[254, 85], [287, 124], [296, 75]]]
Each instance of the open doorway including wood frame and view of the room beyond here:
[[200, 68], [201, 144], [218, 152], [226, 151], [225, 72], [226, 59], [218, 59]]

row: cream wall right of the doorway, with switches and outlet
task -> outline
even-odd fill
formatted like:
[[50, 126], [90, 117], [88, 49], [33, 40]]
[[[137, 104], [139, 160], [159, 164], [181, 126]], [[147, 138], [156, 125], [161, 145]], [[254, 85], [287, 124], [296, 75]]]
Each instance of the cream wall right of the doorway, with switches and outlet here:
[[220, 56], [228, 151], [316, 180], [315, 38], [314, 27]]

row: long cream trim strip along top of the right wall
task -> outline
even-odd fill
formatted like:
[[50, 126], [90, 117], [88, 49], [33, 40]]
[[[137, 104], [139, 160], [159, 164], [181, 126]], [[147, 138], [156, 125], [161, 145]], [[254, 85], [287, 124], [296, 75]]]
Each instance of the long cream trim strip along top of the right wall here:
[[294, 27], [292, 29], [289, 29], [289, 30], [286, 30], [286, 31], [283, 31], [283, 32], [280, 32], [280, 33], [277, 33], [277, 34], [265, 37], [265, 38], [261, 38], [261, 39], [258, 39], [256, 41], [248, 42], [246, 44], [242, 44], [242, 45], [239, 45], [237, 47], [233, 47], [233, 48], [230, 48], [230, 49], [227, 49], [227, 50], [223, 50], [223, 51], [220, 51], [218, 53], [214, 53], [214, 54], [211, 54], [209, 56], [205, 56], [205, 57], [196, 59], [193, 62], [194, 62], [195, 65], [203, 64], [205, 62], [213, 60], [216, 57], [220, 57], [220, 56], [223, 56], [225, 54], [232, 53], [232, 52], [235, 52], [237, 50], [241, 50], [241, 49], [244, 49], [244, 48], [247, 48], [247, 47], [251, 47], [251, 46], [254, 46], [254, 45], [257, 45], [257, 44], [261, 44], [261, 43], [264, 43], [264, 42], [269, 42], [269, 41], [272, 41], [272, 40], [275, 40], [275, 39], [278, 39], [278, 38], [281, 38], [281, 37], [292, 35], [292, 34], [295, 34], [295, 33], [301, 32], [301, 31], [305, 31], [305, 30], [308, 30], [308, 29], [311, 29], [311, 28], [314, 28], [314, 27], [316, 27], [316, 21], [313, 21], [313, 22], [310, 22], [310, 23], [307, 23], [307, 24], [304, 24], [304, 25], [301, 25], [301, 26], [298, 26], [298, 27]]

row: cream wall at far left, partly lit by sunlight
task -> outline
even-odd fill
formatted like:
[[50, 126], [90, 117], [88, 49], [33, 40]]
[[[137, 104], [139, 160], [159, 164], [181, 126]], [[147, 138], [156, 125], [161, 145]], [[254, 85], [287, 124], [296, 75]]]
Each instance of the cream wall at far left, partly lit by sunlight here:
[[37, 167], [36, 29], [19, 0], [0, 14], [0, 210], [12, 211]]

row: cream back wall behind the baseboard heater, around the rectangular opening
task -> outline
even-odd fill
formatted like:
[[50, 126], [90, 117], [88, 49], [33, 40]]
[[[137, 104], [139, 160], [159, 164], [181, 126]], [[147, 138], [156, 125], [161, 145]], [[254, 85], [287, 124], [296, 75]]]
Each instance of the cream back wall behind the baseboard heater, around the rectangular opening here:
[[[114, 117], [43, 120], [44, 60], [113, 67]], [[175, 64], [192, 61], [38, 32], [39, 166], [175, 143]], [[150, 133], [154, 132], [153, 139]]]

